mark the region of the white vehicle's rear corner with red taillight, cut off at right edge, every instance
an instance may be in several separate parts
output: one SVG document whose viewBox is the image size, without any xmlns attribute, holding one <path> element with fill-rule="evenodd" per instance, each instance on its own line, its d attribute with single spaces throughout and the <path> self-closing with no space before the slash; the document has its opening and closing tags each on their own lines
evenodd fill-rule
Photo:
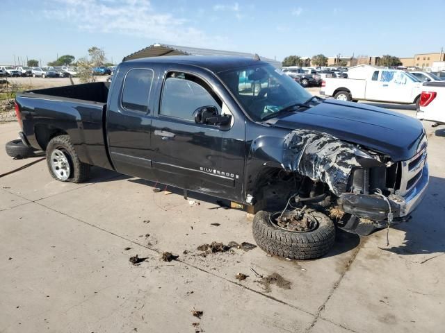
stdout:
<svg viewBox="0 0 445 333">
<path fill-rule="evenodd" d="M 445 125 L 445 87 L 443 85 L 428 83 L 423 86 L 419 106 L 417 119 Z"/>
</svg>

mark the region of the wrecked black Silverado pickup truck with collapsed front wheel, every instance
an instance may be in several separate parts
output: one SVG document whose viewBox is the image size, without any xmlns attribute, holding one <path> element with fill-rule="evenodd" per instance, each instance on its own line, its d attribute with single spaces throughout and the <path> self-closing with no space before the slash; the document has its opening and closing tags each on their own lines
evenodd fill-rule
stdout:
<svg viewBox="0 0 445 333">
<path fill-rule="evenodd" d="M 18 94 L 16 112 L 57 180 L 98 166 L 242 203 L 257 244 L 293 259 L 325 255 L 336 226 L 405 220 L 428 185 L 419 121 L 312 96 L 258 58 L 123 62 L 111 84 Z"/>
</svg>

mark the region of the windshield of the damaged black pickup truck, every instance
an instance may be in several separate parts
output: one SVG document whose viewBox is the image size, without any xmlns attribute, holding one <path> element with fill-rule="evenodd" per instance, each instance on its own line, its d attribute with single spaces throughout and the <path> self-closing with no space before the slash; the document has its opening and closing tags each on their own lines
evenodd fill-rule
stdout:
<svg viewBox="0 0 445 333">
<path fill-rule="evenodd" d="M 303 87 L 272 65 L 254 65 L 219 74 L 245 112 L 259 121 L 289 105 L 312 97 Z"/>
</svg>

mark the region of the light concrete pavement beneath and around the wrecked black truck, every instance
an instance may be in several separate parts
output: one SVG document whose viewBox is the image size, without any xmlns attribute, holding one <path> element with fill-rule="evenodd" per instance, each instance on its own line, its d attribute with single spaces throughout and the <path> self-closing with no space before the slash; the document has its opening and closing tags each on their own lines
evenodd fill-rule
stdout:
<svg viewBox="0 0 445 333">
<path fill-rule="evenodd" d="M 431 184 L 412 220 L 389 231 L 390 246 L 385 230 L 338 232 L 327 256 L 307 262 L 259 248 L 200 256 L 211 241 L 254 243 L 245 213 L 214 198 L 190 205 L 98 168 L 88 183 L 62 183 L 44 161 L 0 178 L 0 332 L 439 332 L 445 137 L 425 126 Z M 0 125 L 0 142 L 17 130 Z M 27 162 L 0 151 L 0 173 Z M 164 251 L 179 259 L 162 262 Z M 147 257 L 139 266 L 136 254 Z M 251 268 L 290 289 L 268 289 Z"/>
</svg>

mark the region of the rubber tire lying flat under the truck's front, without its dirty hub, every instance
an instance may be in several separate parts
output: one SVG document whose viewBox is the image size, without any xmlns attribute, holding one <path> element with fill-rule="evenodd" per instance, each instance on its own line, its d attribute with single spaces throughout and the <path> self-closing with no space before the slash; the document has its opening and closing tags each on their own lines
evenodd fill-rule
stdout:
<svg viewBox="0 0 445 333">
<path fill-rule="evenodd" d="M 318 227 L 309 232 L 278 228 L 269 221 L 269 212 L 258 212 L 254 216 L 252 230 L 259 248 L 271 255 L 289 259 L 316 259 L 329 252 L 335 240 L 334 223 L 316 210 L 306 212 L 318 221 Z"/>
</svg>

